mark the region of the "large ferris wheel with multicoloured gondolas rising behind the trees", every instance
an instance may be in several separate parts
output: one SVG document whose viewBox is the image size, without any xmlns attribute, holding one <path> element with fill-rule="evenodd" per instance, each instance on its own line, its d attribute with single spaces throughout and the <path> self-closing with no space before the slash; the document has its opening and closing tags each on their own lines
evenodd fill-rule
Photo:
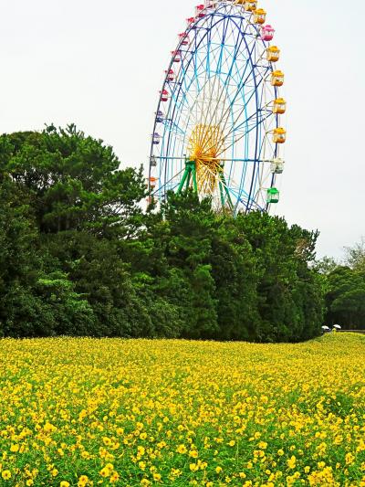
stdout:
<svg viewBox="0 0 365 487">
<path fill-rule="evenodd" d="M 287 102 L 274 34 L 256 0 L 206 1 L 187 19 L 155 114 L 150 201 L 193 188 L 234 214 L 278 202 Z"/>
</svg>

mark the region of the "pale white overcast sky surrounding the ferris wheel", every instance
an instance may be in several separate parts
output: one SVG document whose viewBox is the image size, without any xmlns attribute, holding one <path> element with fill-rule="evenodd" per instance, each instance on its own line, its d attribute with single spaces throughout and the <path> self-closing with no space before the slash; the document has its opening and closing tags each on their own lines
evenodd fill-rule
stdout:
<svg viewBox="0 0 365 487">
<path fill-rule="evenodd" d="M 0 0 L 0 132 L 78 128 L 147 164 L 162 73 L 197 0 Z M 365 235 L 365 2 L 262 0 L 282 49 L 287 167 L 277 213 L 318 255 Z"/>
</svg>

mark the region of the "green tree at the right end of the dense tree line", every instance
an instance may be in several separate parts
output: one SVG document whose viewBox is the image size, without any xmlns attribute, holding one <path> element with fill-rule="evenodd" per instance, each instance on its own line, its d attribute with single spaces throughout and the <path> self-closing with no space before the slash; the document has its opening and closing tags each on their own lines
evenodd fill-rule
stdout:
<svg viewBox="0 0 365 487">
<path fill-rule="evenodd" d="M 284 218 L 260 212 L 239 215 L 237 225 L 254 250 L 260 276 L 255 340 L 296 342 L 318 335 L 323 295 L 309 268 L 318 232 L 288 228 Z"/>
</svg>

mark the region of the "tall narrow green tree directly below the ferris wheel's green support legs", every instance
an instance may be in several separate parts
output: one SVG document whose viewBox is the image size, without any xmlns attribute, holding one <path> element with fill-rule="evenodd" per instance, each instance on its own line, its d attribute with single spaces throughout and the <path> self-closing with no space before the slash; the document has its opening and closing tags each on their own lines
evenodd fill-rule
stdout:
<svg viewBox="0 0 365 487">
<path fill-rule="evenodd" d="M 168 223 L 167 262 L 169 267 L 183 271 L 186 282 L 183 294 L 175 297 L 183 300 L 182 334 L 187 338 L 210 338 L 218 331 L 210 264 L 216 226 L 211 202 L 199 202 L 192 191 L 182 196 L 171 194 L 162 206 L 161 216 Z"/>
</svg>

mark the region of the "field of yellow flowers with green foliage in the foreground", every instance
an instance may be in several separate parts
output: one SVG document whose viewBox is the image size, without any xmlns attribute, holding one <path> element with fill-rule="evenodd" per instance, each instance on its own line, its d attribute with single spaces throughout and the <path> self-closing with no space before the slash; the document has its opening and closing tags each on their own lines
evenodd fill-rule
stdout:
<svg viewBox="0 0 365 487">
<path fill-rule="evenodd" d="M 0 341 L 0 485 L 365 486 L 365 336 Z"/>
</svg>

